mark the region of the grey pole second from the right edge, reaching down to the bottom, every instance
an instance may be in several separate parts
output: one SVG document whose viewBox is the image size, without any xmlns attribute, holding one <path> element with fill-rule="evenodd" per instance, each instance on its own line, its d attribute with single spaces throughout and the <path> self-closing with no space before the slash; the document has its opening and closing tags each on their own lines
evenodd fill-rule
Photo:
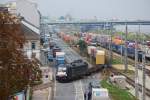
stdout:
<svg viewBox="0 0 150 100">
<path fill-rule="evenodd" d="M 138 78 L 138 42 L 137 42 L 137 32 L 135 34 L 135 97 L 139 99 L 139 78 Z"/>
</svg>

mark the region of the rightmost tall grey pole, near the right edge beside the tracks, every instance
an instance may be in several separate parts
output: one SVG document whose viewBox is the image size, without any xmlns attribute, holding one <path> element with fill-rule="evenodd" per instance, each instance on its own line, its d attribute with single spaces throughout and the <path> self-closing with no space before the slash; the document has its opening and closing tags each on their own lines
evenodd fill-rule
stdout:
<svg viewBox="0 0 150 100">
<path fill-rule="evenodd" d="M 140 33 L 140 25 L 139 25 L 139 33 Z M 144 33 L 143 35 L 143 41 L 142 41 L 142 48 L 143 48 L 143 55 L 142 55 L 142 79 L 143 79 L 143 84 L 142 84 L 142 100 L 145 100 L 145 80 L 146 80 L 146 73 L 145 73 L 145 46 L 144 46 Z"/>
</svg>

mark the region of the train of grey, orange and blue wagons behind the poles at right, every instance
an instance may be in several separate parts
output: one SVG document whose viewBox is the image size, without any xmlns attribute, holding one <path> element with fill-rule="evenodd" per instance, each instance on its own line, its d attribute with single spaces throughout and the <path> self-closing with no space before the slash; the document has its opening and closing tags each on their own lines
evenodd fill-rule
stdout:
<svg viewBox="0 0 150 100">
<path fill-rule="evenodd" d="M 101 35 L 101 34 L 89 34 L 87 33 L 87 36 L 85 35 L 85 42 L 88 45 L 93 45 L 93 46 L 101 46 L 104 47 L 106 49 L 109 49 L 110 45 L 112 47 L 112 50 L 116 53 L 125 54 L 125 41 L 123 41 L 119 36 L 117 37 L 113 37 L 112 39 L 112 43 L 110 43 L 111 40 L 111 36 L 110 35 Z M 127 41 L 127 56 L 129 58 L 134 59 L 135 58 L 135 42 L 134 41 Z M 150 42 L 147 41 L 146 45 L 149 46 Z M 139 43 L 139 45 L 141 45 Z M 145 46 L 146 46 L 145 45 Z M 142 61 L 142 55 L 143 55 L 143 51 L 138 48 L 138 61 L 141 62 Z M 150 53 L 148 52 L 150 51 L 150 47 L 148 50 L 146 50 L 146 55 L 145 55 L 145 59 L 146 61 L 150 61 Z"/>
</svg>

